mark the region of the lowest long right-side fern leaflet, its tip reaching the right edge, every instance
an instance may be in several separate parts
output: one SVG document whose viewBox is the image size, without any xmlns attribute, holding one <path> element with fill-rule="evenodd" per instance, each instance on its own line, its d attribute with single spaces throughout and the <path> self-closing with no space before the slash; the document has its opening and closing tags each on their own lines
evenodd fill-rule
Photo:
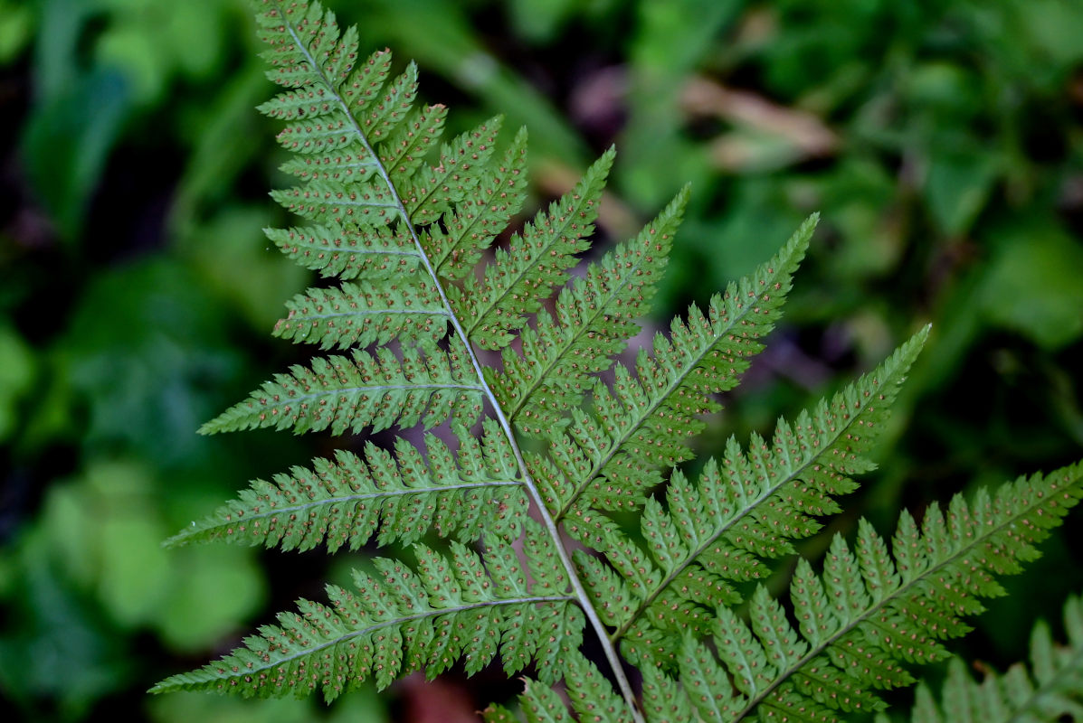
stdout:
<svg viewBox="0 0 1083 723">
<path fill-rule="evenodd" d="M 982 612 L 980 597 L 1002 594 L 995 576 L 1039 556 L 1034 545 L 1080 498 L 1083 463 L 1020 477 L 993 495 L 979 490 L 971 503 L 957 495 L 947 515 L 936 505 L 926 511 L 921 533 L 904 513 L 893 554 L 862 520 L 853 550 L 835 537 L 822 576 L 798 561 L 791 584 L 798 629 L 762 586 L 751 622 L 719 607 L 713 644 L 732 679 L 725 709 L 733 715 L 718 720 L 755 712 L 760 720 L 836 721 L 839 712 L 882 709 L 876 691 L 913 683 L 908 663 L 945 657 L 941 641 L 968 630 L 960 618 Z M 686 654 L 689 645 L 702 648 L 686 643 Z M 678 661 L 682 676 L 699 665 Z"/>
</svg>

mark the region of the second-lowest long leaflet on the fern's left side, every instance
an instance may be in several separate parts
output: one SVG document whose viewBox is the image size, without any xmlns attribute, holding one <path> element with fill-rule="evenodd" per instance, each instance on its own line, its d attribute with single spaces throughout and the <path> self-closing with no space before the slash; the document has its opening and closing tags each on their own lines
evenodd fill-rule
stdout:
<svg viewBox="0 0 1083 723">
<path fill-rule="evenodd" d="M 527 499 L 503 432 L 486 420 L 478 439 L 459 430 L 453 452 L 426 435 L 423 452 L 403 438 L 395 455 L 365 445 L 364 457 L 339 450 L 335 461 L 292 468 L 249 489 L 211 516 L 193 522 L 167 544 L 224 540 L 283 550 L 326 544 L 357 550 L 374 536 L 380 544 L 419 540 L 429 529 L 471 542 L 483 533 L 513 539 Z"/>
</svg>

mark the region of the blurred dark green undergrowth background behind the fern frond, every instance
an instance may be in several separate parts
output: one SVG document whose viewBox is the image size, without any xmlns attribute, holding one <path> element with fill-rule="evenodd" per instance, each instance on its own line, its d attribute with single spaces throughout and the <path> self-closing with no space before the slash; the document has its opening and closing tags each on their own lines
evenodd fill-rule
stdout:
<svg viewBox="0 0 1083 723">
<path fill-rule="evenodd" d="M 363 48 L 417 60 L 453 131 L 529 126 L 531 210 L 614 143 L 601 242 L 691 182 L 654 324 L 821 211 L 703 455 L 934 324 L 879 471 L 827 531 L 859 514 L 889 531 L 902 507 L 1083 457 L 1083 3 L 331 5 Z M 242 0 L 0 0 L 3 720 L 457 721 L 517 689 L 453 673 L 330 708 L 144 693 L 355 562 L 159 545 L 247 479 L 350 443 L 195 434 L 309 352 L 269 334 L 310 279 L 260 233 L 287 219 L 257 45 Z M 1080 521 L 954 649 L 1026 655 L 1032 621 L 1083 591 Z"/>
</svg>

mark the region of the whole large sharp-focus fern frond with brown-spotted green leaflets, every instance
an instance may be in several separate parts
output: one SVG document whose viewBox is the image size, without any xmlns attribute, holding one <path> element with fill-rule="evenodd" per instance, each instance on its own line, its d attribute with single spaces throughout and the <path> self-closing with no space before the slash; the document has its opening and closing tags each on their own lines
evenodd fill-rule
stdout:
<svg viewBox="0 0 1083 723">
<path fill-rule="evenodd" d="M 573 277 L 610 150 L 493 249 L 525 199 L 526 132 L 501 143 L 494 118 L 438 145 L 446 111 L 418 104 L 414 65 L 392 78 L 388 52 L 362 60 L 356 31 L 317 2 L 258 4 L 269 75 L 286 88 L 260 110 L 286 122 L 278 140 L 296 155 L 284 169 L 298 179 L 274 197 L 309 221 L 268 235 L 341 279 L 289 301 L 275 333 L 336 353 L 276 376 L 201 431 L 446 433 L 391 450 L 366 442 L 257 479 L 172 538 L 410 552 L 155 692 L 318 689 L 330 700 L 366 680 L 498 660 L 533 679 L 519 713 L 494 706 L 490 721 L 839 720 L 882 709 L 878 691 L 943 657 L 961 618 L 1000 591 L 995 576 L 1036 554 L 1083 495 L 1074 465 L 955 498 L 921 525 L 903 515 L 890 544 L 862 522 L 819 571 L 797 563 L 788 597 L 749 587 L 872 468 L 928 329 L 770 439 L 730 439 L 691 478 L 677 466 L 693 457 L 701 417 L 760 351 L 815 219 L 632 366 L 617 364 L 687 192 Z M 499 364 L 485 366 L 481 350 Z M 638 515 L 638 529 L 615 512 Z M 580 654 L 584 635 L 599 641 L 604 674 Z"/>
</svg>

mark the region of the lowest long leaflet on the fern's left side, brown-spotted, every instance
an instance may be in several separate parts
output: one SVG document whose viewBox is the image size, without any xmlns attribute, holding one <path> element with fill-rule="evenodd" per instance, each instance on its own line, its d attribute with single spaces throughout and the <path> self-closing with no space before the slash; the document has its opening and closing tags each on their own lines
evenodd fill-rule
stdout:
<svg viewBox="0 0 1083 723">
<path fill-rule="evenodd" d="M 544 537 L 530 526 L 527 538 L 548 557 L 554 552 Z M 416 570 L 376 560 L 378 576 L 355 571 L 355 591 L 328 586 L 329 605 L 302 600 L 298 612 L 280 614 L 278 625 L 261 628 L 245 647 L 153 692 L 270 697 L 322 689 L 331 700 L 366 680 L 383 688 L 415 670 L 431 678 L 459 658 L 474 673 L 498 652 L 509 674 L 533 661 L 548 683 L 559 679 L 584 625 L 574 597 L 551 592 L 567 584 L 559 566 L 529 558 L 524 568 L 511 543 L 494 538 L 487 538 L 484 565 L 459 543 L 449 557 L 421 544 L 414 550 Z M 527 584 L 527 577 L 535 582 Z"/>
</svg>

